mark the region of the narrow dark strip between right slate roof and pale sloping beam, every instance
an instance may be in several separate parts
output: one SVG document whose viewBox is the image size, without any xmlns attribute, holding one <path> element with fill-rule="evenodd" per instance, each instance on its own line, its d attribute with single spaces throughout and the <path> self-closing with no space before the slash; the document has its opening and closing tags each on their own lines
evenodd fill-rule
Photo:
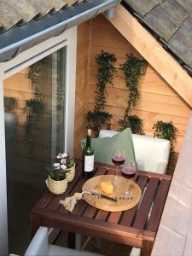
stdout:
<svg viewBox="0 0 192 256">
<path fill-rule="evenodd" d="M 125 3 L 124 1 L 121 3 L 125 9 L 127 9 L 127 11 L 129 11 L 131 13 L 131 15 L 135 16 L 137 18 L 137 20 L 143 25 L 143 27 L 145 27 L 148 32 L 150 32 L 154 38 L 156 38 L 160 44 L 163 46 L 163 48 L 166 49 L 167 52 L 169 52 L 174 59 L 176 59 L 180 66 L 183 67 L 183 69 L 185 69 L 187 71 L 187 73 L 189 73 L 189 75 L 192 77 L 192 69 L 191 67 L 189 67 L 189 65 L 187 65 L 178 55 L 177 53 L 174 51 L 174 49 L 172 49 L 167 43 L 166 41 L 160 37 L 160 35 L 154 31 L 154 29 L 148 24 L 148 22 L 146 20 L 143 19 L 143 17 L 141 17 L 139 14 L 137 14 L 134 9 L 132 9 L 127 3 Z"/>
</svg>

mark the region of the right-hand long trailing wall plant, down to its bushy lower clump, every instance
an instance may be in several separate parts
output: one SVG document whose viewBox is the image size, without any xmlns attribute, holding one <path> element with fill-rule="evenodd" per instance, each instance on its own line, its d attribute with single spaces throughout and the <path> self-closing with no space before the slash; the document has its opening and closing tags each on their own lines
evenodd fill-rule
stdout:
<svg viewBox="0 0 192 256">
<path fill-rule="evenodd" d="M 126 55 L 127 60 L 120 65 L 120 69 L 125 74 L 125 84 L 129 89 L 129 98 L 127 100 L 127 108 L 123 119 L 119 119 L 120 130 L 123 131 L 127 127 L 131 127 L 133 133 L 143 134 L 143 119 L 136 115 L 131 116 L 130 108 L 135 108 L 139 100 L 138 83 L 140 76 L 144 73 L 147 62 L 133 55 Z"/>
</svg>

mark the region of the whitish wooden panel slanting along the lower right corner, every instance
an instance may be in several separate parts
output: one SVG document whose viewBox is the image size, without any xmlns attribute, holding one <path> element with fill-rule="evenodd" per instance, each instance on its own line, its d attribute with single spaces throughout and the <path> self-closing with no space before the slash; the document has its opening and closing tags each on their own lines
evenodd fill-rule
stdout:
<svg viewBox="0 0 192 256">
<path fill-rule="evenodd" d="M 192 252 L 192 115 L 172 177 L 152 256 Z"/>
</svg>

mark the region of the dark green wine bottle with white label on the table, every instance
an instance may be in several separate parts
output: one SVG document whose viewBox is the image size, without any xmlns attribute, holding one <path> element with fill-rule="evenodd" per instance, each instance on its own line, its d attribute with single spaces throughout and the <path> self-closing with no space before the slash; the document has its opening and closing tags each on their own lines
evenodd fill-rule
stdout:
<svg viewBox="0 0 192 256">
<path fill-rule="evenodd" d="M 82 151 L 82 177 L 88 179 L 93 176 L 94 151 L 91 148 L 91 130 L 87 131 L 86 146 Z"/>
</svg>

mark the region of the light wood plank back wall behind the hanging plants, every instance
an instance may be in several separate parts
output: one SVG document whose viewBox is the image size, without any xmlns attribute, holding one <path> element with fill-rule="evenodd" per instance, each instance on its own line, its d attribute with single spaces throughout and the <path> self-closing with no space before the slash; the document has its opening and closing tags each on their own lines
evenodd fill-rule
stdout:
<svg viewBox="0 0 192 256">
<path fill-rule="evenodd" d="M 87 23 L 86 23 L 86 26 Z M 88 32 L 88 28 L 87 28 Z M 92 110 L 95 104 L 95 90 L 97 72 L 95 57 L 101 50 L 113 53 L 117 57 L 116 66 L 125 62 L 126 54 L 140 56 L 139 53 L 129 44 L 126 39 L 113 27 L 113 25 L 104 18 L 103 15 L 97 16 L 94 20 L 90 20 L 89 24 L 89 61 L 87 86 L 89 90 L 89 109 Z M 82 41 L 84 34 L 79 30 L 79 43 Z M 85 39 L 84 39 L 85 40 Z M 86 41 L 88 43 L 88 41 Z M 82 44 L 82 43 L 81 43 Z M 84 49 L 84 58 L 87 57 L 87 49 Z M 80 56 L 78 53 L 78 60 Z M 79 62 L 79 61 L 78 61 Z M 79 65 L 79 64 L 78 64 Z M 77 73 L 79 79 L 79 73 Z M 77 84 L 78 85 L 78 84 Z M 77 86 L 78 87 L 78 86 Z M 108 101 L 106 110 L 113 114 L 112 129 L 119 128 L 117 122 L 123 117 L 126 107 L 128 91 L 125 87 L 124 74 L 119 70 L 113 79 L 113 86 L 108 86 Z M 172 121 L 178 129 L 176 152 L 178 153 L 183 142 L 183 136 L 186 131 L 190 108 L 187 103 L 183 102 L 171 87 L 148 65 L 147 73 L 140 80 L 139 90 L 141 98 L 137 103 L 137 107 L 131 111 L 131 114 L 137 114 L 144 122 L 144 131 L 148 136 L 153 136 L 152 129 L 157 120 L 165 122 Z M 76 96 L 79 90 L 76 91 Z M 85 109 L 84 109 L 85 110 Z M 77 110 L 76 110 L 77 111 Z M 80 117 L 78 117 L 79 119 Z M 82 116 L 82 124 L 84 124 L 84 116 Z M 80 123 L 80 120 L 79 120 Z M 77 129 L 76 129 L 77 132 Z M 78 130 L 79 132 L 79 130 Z M 83 134 L 83 133 L 82 133 Z M 76 154 L 78 150 L 76 150 Z"/>
</svg>

